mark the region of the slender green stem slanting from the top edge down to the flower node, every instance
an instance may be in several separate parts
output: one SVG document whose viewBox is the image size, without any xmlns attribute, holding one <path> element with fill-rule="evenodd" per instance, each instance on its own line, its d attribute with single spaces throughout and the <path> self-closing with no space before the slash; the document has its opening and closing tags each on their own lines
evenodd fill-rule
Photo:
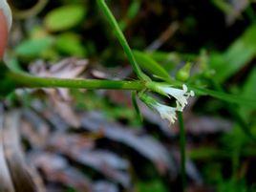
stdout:
<svg viewBox="0 0 256 192">
<path fill-rule="evenodd" d="M 107 4 L 105 3 L 105 0 L 97 0 L 97 4 L 98 4 L 98 7 L 104 12 L 105 16 L 107 17 L 108 22 L 110 23 L 111 27 L 114 30 L 114 32 L 116 32 L 117 39 L 119 40 L 119 43 L 121 44 L 124 52 L 127 54 L 127 57 L 132 65 L 136 75 L 138 75 L 138 77 L 140 79 L 150 80 L 149 77 L 147 75 L 145 75 L 144 73 L 142 73 L 142 71 L 140 70 L 137 60 L 136 60 L 134 54 L 132 53 L 132 50 L 131 50 L 125 36 L 123 35 L 123 33 L 121 32 L 121 30 L 119 28 L 115 16 L 109 10 Z"/>
</svg>

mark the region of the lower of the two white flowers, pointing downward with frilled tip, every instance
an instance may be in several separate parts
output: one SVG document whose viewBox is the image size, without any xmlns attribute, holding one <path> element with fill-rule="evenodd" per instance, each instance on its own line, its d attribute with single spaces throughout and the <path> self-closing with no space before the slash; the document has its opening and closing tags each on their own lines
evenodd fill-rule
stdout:
<svg viewBox="0 0 256 192">
<path fill-rule="evenodd" d="M 176 108 L 169 107 L 167 105 L 162 105 L 158 102 L 153 107 L 160 113 L 160 117 L 167 119 L 170 122 L 170 124 L 174 123 L 175 120 L 177 119 Z"/>
</svg>

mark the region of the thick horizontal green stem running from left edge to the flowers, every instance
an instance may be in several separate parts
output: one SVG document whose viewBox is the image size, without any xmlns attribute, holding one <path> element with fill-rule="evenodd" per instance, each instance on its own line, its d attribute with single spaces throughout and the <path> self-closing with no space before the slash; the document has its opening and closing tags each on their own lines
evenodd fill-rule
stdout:
<svg viewBox="0 0 256 192">
<path fill-rule="evenodd" d="M 74 89 L 116 89 L 135 90 L 144 89 L 141 81 L 116 81 L 97 79 L 68 79 L 54 77 L 39 77 L 26 73 L 8 72 L 7 76 L 17 87 L 23 88 L 74 88 Z"/>
</svg>

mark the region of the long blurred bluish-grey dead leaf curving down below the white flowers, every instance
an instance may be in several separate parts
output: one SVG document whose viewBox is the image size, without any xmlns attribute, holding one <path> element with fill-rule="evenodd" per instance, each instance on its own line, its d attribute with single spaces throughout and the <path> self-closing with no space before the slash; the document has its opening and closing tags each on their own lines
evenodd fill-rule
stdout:
<svg viewBox="0 0 256 192">
<path fill-rule="evenodd" d="M 82 117 L 82 126 L 91 132 L 102 132 L 107 139 L 125 144 L 143 157 L 151 160 L 160 173 L 169 170 L 176 175 L 177 169 L 167 149 L 157 139 L 148 135 L 139 135 L 134 128 L 125 127 L 116 122 L 109 122 L 100 113 L 88 113 Z"/>
</svg>

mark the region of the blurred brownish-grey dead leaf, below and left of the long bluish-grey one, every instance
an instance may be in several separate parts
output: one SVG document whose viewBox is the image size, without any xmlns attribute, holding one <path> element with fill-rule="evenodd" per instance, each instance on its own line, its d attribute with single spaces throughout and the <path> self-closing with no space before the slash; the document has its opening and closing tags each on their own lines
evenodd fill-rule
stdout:
<svg viewBox="0 0 256 192">
<path fill-rule="evenodd" d="M 78 135 L 56 134 L 49 140 L 49 147 L 60 152 L 71 160 L 94 168 L 107 178 L 129 186 L 130 177 L 127 174 L 129 163 L 116 154 L 94 149 L 94 142 Z"/>
</svg>

